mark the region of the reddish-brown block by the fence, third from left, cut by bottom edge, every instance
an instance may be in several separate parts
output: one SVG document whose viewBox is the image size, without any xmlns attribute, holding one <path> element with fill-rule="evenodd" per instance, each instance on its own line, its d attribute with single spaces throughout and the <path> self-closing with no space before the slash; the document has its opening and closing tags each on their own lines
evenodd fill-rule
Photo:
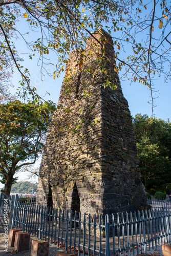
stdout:
<svg viewBox="0 0 171 256">
<path fill-rule="evenodd" d="M 49 243 L 46 241 L 32 240 L 30 256 L 48 256 Z"/>
</svg>

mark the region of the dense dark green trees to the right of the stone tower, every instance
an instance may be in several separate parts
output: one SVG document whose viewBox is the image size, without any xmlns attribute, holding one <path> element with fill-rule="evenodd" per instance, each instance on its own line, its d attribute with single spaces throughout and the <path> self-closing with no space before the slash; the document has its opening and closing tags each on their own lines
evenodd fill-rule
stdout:
<svg viewBox="0 0 171 256">
<path fill-rule="evenodd" d="M 171 182 L 171 123 L 137 114 L 133 120 L 138 160 L 146 189 Z"/>
</svg>

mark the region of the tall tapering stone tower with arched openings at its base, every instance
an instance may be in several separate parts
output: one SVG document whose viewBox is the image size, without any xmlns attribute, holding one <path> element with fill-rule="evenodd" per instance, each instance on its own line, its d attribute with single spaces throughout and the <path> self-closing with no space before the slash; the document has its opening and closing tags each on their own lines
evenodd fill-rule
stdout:
<svg viewBox="0 0 171 256">
<path fill-rule="evenodd" d="M 79 56 L 70 56 L 41 160 L 37 202 L 103 215 L 142 209 L 146 195 L 112 37 L 103 30 L 93 36 Z M 106 73 L 111 80 L 104 89 Z"/>
</svg>

